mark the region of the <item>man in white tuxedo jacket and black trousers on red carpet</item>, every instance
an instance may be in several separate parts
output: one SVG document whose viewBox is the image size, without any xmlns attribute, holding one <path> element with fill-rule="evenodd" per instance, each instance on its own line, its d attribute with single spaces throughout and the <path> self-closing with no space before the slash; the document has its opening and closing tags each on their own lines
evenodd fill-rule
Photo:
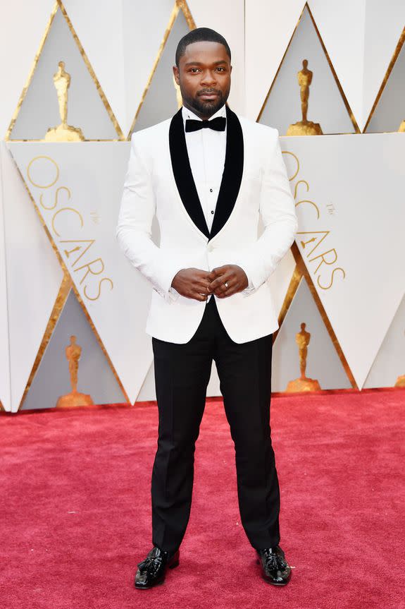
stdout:
<svg viewBox="0 0 405 609">
<path fill-rule="evenodd" d="M 116 236 L 153 285 L 152 337 L 159 426 L 151 480 L 152 548 L 135 587 L 161 583 L 179 563 L 192 500 L 194 450 L 216 361 L 235 442 L 242 525 L 261 573 L 283 586 L 280 491 L 270 439 L 272 333 L 266 280 L 294 241 L 297 216 L 278 131 L 237 116 L 230 49 L 208 28 L 177 47 L 183 106 L 132 135 Z M 160 246 L 151 241 L 156 214 Z M 258 239 L 258 220 L 263 234 Z"/>
</svg>

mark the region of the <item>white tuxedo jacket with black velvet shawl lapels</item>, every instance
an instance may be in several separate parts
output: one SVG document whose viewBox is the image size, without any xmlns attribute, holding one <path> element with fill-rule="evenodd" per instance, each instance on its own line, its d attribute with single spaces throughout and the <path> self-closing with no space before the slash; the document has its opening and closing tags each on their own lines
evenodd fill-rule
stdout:
<svg viewBox="0 0 405 609">
<path fill-rule="evenodd" d="M 170 290 L 177 271 L 239 265 L 251 282 L 218 299 L 230 338 L 247 342 L 278 329 L 267 279 L 294 241 L 297 215 L 277 129 L 237 116 L 228 107 L 225 167 L 211 233 L 199 202 L 187 156 L 181 109 L 134 133 L 120 204 L 116 239 L 135 268 L 153 286 L 146 331 L 185 343 L 201 321 L 206 301 Z M 151 239 L 156 215 L 161 232 Z M 261 216 L 263 233 L 258 238 Z"/>
</svg>

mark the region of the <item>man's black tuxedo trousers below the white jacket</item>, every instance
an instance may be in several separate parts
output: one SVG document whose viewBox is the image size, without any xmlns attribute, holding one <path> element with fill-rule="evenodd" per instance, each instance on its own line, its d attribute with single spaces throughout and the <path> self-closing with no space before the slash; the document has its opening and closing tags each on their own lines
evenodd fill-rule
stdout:
<svg viewBox="0 0 405 609">
<path fill-rule="evenodd" d="M 189 342 L 152 338 L 159 414 L 151 478 L 152 542 L 161 550 L 177 550 L 189 521 L 195 442 L 213 360 L 235 443 L 242 526 L 254 548 L 279 543 L 280 490 L 270 438 L 272 339 L 268 334 L 233 342 L 213 296 Z"/>
</svg>

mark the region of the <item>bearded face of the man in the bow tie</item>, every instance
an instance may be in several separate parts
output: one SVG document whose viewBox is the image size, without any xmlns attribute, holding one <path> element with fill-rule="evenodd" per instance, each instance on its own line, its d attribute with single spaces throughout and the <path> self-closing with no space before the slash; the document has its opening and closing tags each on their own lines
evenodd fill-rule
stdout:
<svg viewBox="0 0 405 609">
<path fill-rule="evenodd" d="M 184 106 L 201 119 L 215 114 L 228 100 L 231 71 L 230 59 L 223 44 L 189 44 L 185 54 L 180 57 L 179 67 L 173 66 Z"/>
</svg>

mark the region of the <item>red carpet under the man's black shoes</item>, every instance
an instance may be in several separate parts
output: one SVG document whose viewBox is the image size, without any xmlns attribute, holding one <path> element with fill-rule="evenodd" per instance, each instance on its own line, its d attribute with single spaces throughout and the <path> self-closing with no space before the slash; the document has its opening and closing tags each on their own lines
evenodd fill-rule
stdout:
<svg viewBox="0 0 405 609">
<path fill-rule="evenodd" d="M 207 403 L 180 566 L 132 587 L 151 548 L 157 409 L 0 416 L 4 609 L 403 609 L 405 392 L 275 397 L 285 588 L 239 521 L 222 402 Z"/>
</svg>

